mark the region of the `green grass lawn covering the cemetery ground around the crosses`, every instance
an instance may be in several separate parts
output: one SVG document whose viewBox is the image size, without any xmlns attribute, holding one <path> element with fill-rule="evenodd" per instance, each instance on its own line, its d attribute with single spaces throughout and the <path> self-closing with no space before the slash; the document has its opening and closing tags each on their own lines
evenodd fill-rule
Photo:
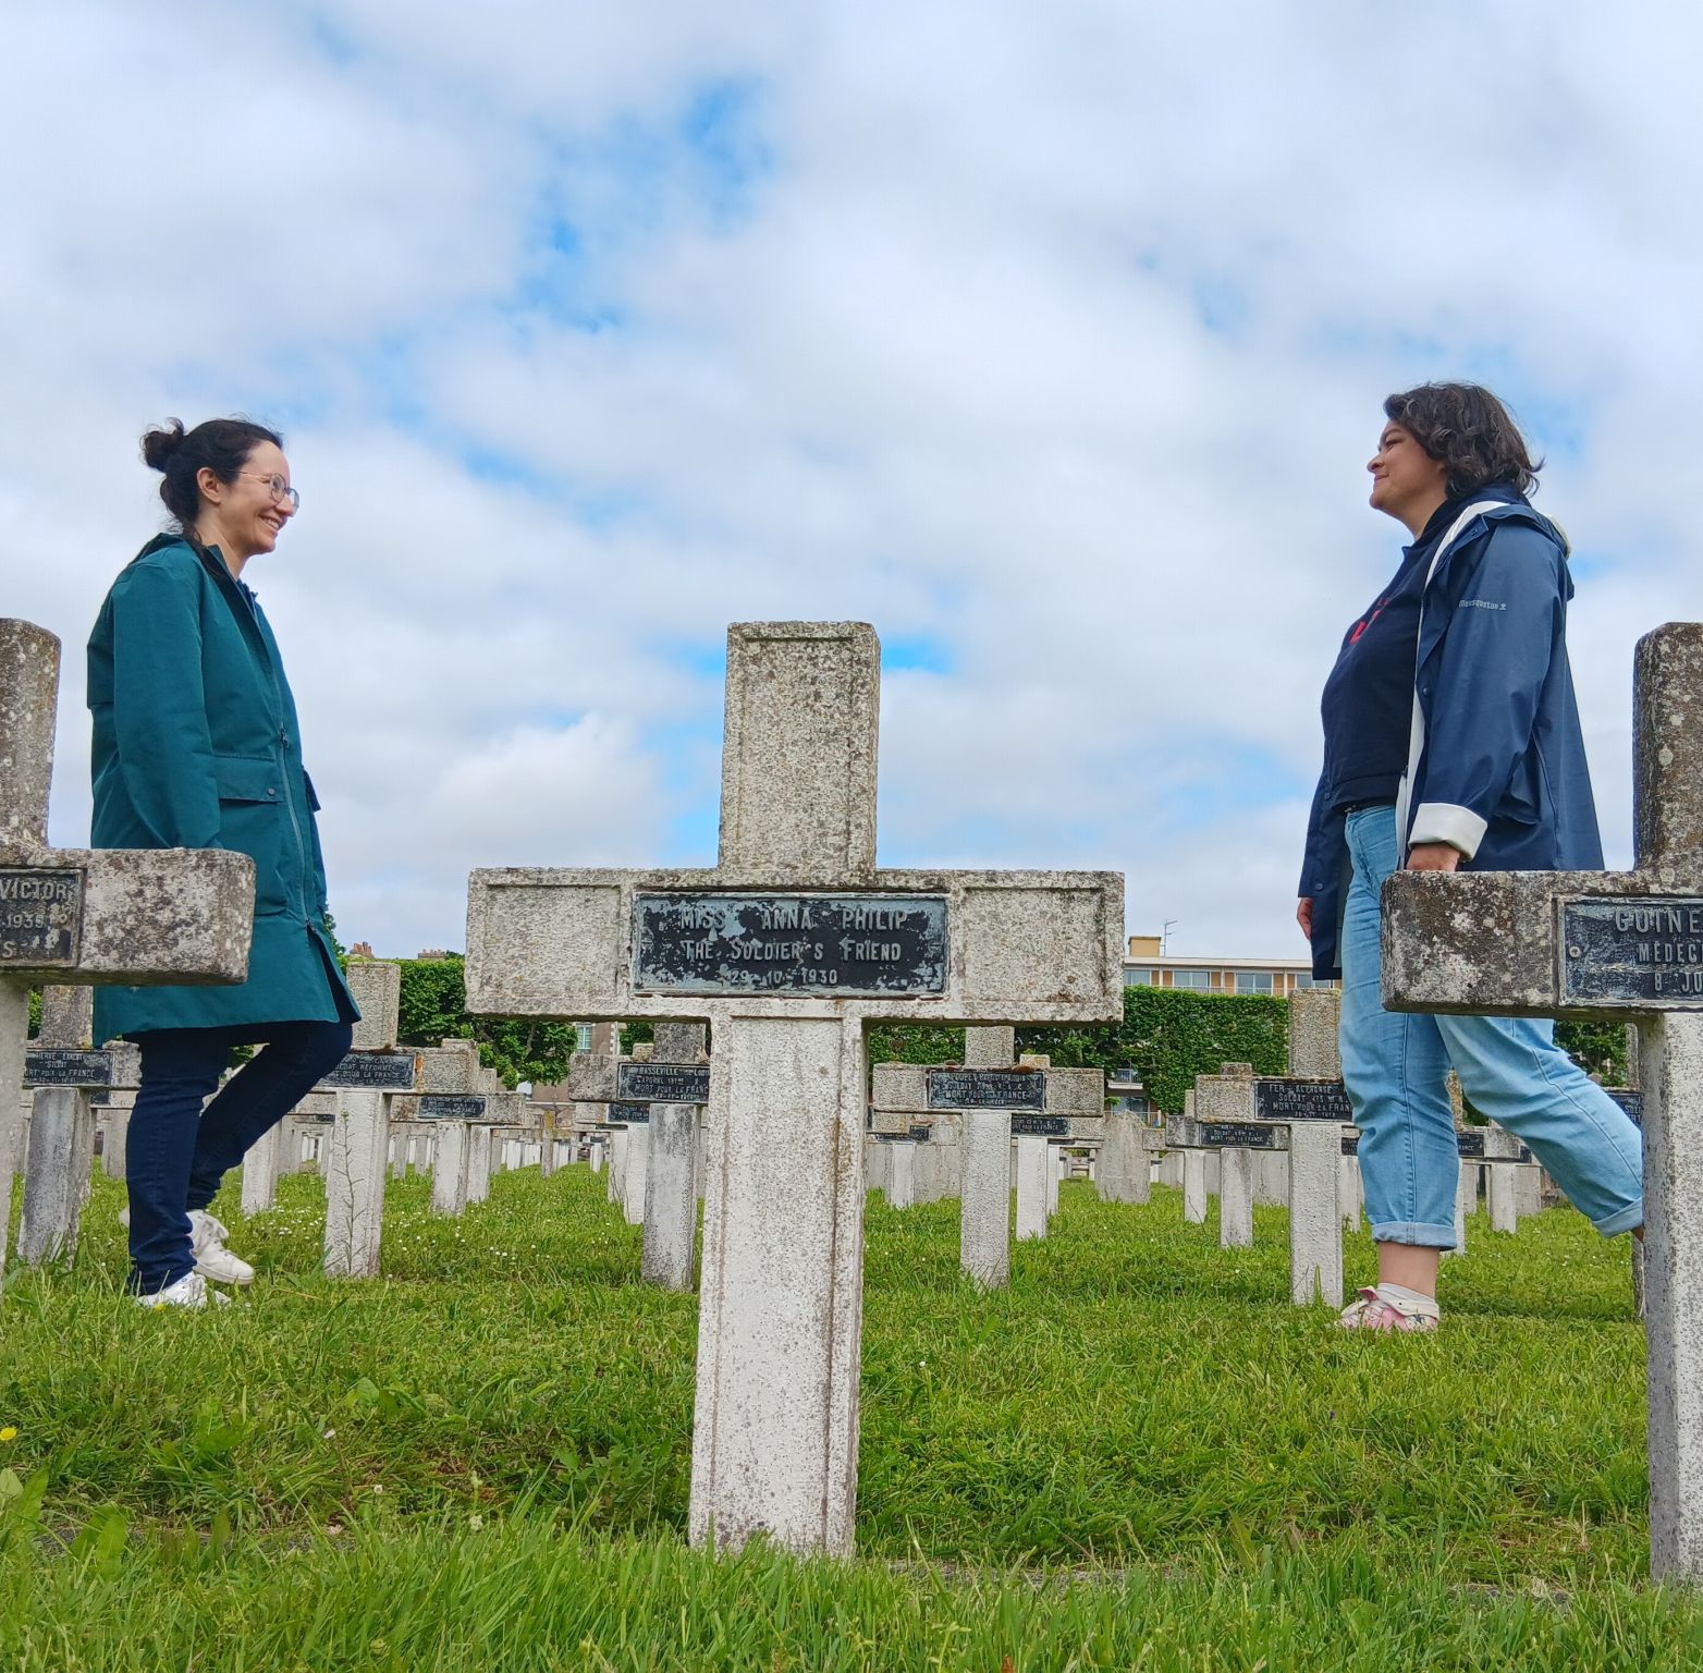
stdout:
<svg viewBox="0 0 1703 1673">
<path fill-rule="evenodd" d="M 1626 1242 L 1568 1211 L 1475 1218 L 1444 1331 L 1361 1339 L 1287 1305 L 1281 1210 L 1224 1252 L 1071 1184 L 979 1295 L 955 1204 L 870 1199 L 860 1561 L 795 1564 L 685 1549 L 697 1303 L 603 1181 L 427 1189 L 383 1281 L 318 1276 L 312 1177 L 216 1204 L 230 1310 L 128 1303 L 104 1179 L 75 1269 L 10 1274 L 0 1666 L 1703 1664 L 1647 1579 Z"/>
</svg>

